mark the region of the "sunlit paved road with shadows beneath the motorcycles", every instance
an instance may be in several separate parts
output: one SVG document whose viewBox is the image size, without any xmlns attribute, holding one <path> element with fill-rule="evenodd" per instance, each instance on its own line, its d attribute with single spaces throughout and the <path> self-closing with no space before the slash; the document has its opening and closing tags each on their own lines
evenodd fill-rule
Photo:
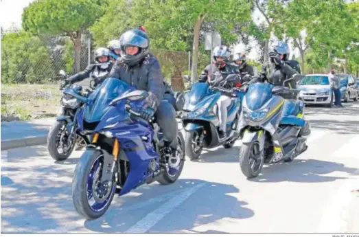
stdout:
<svg viewBox="0 0 359 237">
<path fill-rule="evenodd" d="M 82 152 L 52 160 L 45 146 L 1 152 L 2 232 L 359 232 L 359 104 L 308 107 L 308 150 L 292 163 L 240 172 L 234 148 L 186 161 L 173 185 L 144 185 L 85 221 L 73 208 L 71 179 Z M 355 229 L 356 228 L 356 229 Z"/>
</svg>

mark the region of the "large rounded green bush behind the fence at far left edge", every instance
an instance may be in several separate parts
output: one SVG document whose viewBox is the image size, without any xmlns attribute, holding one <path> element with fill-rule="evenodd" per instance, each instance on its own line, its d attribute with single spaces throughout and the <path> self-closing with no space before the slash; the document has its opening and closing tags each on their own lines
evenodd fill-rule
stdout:
<svg viewBox="0 0 359 237">
<path fill-rule="evenodd" d="M 34 83 L 54 75 L 49 49 L 37 36 L 24 31 L 5 34 L 1 46 L 1 82 Z"/>
</svg>

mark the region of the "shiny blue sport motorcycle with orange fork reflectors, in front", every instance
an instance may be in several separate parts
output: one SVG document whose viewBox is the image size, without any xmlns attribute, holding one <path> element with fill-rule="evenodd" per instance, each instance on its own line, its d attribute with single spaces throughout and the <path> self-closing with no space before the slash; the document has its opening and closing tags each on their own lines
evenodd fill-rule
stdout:
<svg viewBox="0 0 359 237">
<path fill-rule="evenodd" d="M 87 219 L 102 216 L 115 193 L 122 196 L 145 183 L 174 183 L 185 162 L 185 143 L 178 133 L 172 157 L 160 128 L 139 117 L 147 91 L 107 78 L 78 112 L 80 134 L 91 136 L 72 181 L 76 211 Z"/>
</svg>

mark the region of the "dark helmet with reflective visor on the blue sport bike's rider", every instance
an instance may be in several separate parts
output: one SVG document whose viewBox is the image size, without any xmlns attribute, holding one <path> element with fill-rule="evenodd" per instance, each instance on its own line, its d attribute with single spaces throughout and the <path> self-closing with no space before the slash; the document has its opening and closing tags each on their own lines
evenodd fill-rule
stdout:
<svg viewBox="0 0 359 237">
<path fill-rule="evenodd" d="M 122 34 L 119 44 L 121 45 L 121 58 L 128 66 L 140 63 L 150 52 L 150 39 L 145 32 L 139 29 L 128 30 Z M 135 55 L 126 54 L 128 46 L 138 47 L 139 52 Z"/>
</svg>

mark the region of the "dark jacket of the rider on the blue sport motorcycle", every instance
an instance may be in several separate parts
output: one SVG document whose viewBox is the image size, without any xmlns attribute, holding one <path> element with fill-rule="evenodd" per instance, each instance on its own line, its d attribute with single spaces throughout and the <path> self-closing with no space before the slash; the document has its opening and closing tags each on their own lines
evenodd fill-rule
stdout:
<svg viewBox="0 0 359 237">
<path fill-rule="evenodd" d="M 156 106 L 163 99 L 163 77 L 159 60 L 152 54 L 148 54 L 138 65 L 128 67 L 121 58 L 111 70 L 108 77 L 118 78 L 139 90 L 149 92 L 147 98 Z"/>
</svg>

